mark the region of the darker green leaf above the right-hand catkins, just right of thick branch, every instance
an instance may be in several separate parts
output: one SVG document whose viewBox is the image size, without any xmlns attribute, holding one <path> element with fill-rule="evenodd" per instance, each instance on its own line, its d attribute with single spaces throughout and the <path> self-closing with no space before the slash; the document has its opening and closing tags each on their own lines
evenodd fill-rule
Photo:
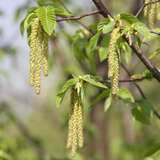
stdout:
<svg viewBox="0 0 160 160">
<path fill-rule="evenodd" d="M 129 25 L 139 22 L 135 16 L 133 16 L 132 14 L 129 14 L 129 13 L 121 13 L 120 19 Z"/>
</svg>

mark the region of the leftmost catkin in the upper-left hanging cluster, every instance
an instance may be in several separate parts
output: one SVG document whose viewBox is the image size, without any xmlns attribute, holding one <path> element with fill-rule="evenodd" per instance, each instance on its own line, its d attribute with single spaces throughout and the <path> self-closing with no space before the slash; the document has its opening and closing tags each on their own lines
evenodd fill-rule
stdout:
<svg viewBox="0 0 160 160">
<path fill-rule="evenodd" d="M 30 36 L 30 85 L 31 86 L 34 86 L 36 41 L 37 41 L 39 24 L 40 24 L 39 19 L 36 18 L 32 25 L 32 32 Z"/>
</svg>

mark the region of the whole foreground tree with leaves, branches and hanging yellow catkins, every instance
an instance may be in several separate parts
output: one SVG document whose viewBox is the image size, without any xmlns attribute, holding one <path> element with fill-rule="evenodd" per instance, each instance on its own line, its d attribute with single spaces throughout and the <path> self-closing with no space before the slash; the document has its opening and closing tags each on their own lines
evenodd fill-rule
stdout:
<svg viewBox="0 0 160 160">
<path fill-rule="evenodd" d="M 145 82 L 146 85 L 154 80 L 160 82 L 160 70 L 152 62 L 160 54 L 160 48 L 156 48 L 149 56 L 144 49 L 160 39 L 160 1 L 139 1 L 142 3 L 135 15 L 113 14 L 101 0 L 92 0 L 95 10 L 74 16 L 61 0 L 41 0 L 37 6 L 28 10 L 21 22 L 21 33 L 23 35 L 24 31 L 27 32 L 30 47 L 30 85 L 35 88 L 36 94 L 43 92 L 40 89 L 41 70 L 45 76 L 50 74 L 49 41 L 53 42 L 58 37 L 59 30 L 64 29 L 61 22 L 79 25 L 74 35 L 68 37 L 71 38 L 72 56 L 74 55 L 84 74 L 70 72 L 69 78 L 56 96 L 56 104 L 60 106 L 66 92 L 70 93 L 70 106 L 66 106 L 69 108 L 66 147 L 71 150 L 73 158 L 78 150 L 87 145 L 84 137 L 84 121 L 87 116 L 84 111 L 88 107 L 86 101 L 90 101 L 91 110 L 94 110 L 96 104 L 102 103 L 104 112 L 107 112 L 109 108 L 112 109 L 114 102 L 120 103 L 122 100 L 124 105 L 132 106 L 132 117 L 144 125 L 149 125 L 154 117 L 160 120 L 160 114 L 149 100 L 150 97 L 146 96 L 139 85 L 140 82 Z M 80 22 L 88 16 L 100 16 L 101 20 L 88 26 Z M 137 64 L 145 69 L 134 74 Z M 97 87 L 98 94 L 96 92 L 93 94 L 94 98 L 88 99 L 87 94 L 92 86 Z M 135 95 L 131 87 L 139 95 L 138 92 Z M 155 151 L 141 159 L 154 159 Z"/>
</svg>

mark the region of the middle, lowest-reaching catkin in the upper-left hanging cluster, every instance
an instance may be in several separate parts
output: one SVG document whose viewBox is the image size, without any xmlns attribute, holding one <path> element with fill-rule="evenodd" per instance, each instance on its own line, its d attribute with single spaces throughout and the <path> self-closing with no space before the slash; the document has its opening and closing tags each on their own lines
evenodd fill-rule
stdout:
<svg viewBox="0 0 160 160">
<path fill-rule="evenodd" d="M 42 28 L 39 26 L 37 42 L 36 42 L 36 61 L 35 61 L 35 91 L 40 94 L 40 81 L 41 81 L 41 65 L 42 65 Z"/>
</svg>

